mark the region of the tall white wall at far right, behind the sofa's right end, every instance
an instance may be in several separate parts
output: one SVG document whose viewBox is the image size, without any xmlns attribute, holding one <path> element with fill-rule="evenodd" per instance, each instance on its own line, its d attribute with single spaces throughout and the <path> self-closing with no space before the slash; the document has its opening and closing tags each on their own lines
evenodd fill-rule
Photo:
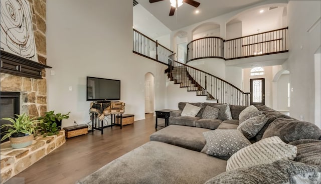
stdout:
<svg viewBox="0 0 321 184">
<path fill-rule="evenodd" d="M 290 115 L 314 123 L 314 53 L 321 43 L 320 1 L 289 1 Z M 314 25 L 314 26 L 313 26 Z"/>
</svg>

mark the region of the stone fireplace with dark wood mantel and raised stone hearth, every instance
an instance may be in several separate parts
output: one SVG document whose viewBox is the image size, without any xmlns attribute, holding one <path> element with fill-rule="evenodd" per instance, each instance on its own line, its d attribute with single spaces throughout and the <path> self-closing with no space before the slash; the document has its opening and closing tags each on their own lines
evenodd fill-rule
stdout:
<svg viewBox="0 0 321 184">
<path fill-rule="evenodd" d="M 47 111 L 47 81 L 44 68 L 51 68 L 46 65 L 46 0 L 23 1 L 28 1 L 30 5 L 38 62 L 11 53 L 8 54 L 1 48 L 0 91 L 2 94 L 5 94 L 3 92 L 18 94 L 17 98 L 20 101 L 19 114 L 27 113 L 33 116 L 42 116 Z M 12 12 L 9 13 L 11 16 L 14 15 L 11 14 Z M 1 108 L 11 108 L 7 105 L 3 104 Z M 8 111 L 12 110 L 9 109 Z M 65 141 L 64 130 L 61 130 L 58 135 L 37 136 L 33 140 L 33 144 L 25 148 L 13 149 L 9 141 L 2 143 L 0 148 L 0 183 L 14 177 L 64 144 Z"/>
</svg>

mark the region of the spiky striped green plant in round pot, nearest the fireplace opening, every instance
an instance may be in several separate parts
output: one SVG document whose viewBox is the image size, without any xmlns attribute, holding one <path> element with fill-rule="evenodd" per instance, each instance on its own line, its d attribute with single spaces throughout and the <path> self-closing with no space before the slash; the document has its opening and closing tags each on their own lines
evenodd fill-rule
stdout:
<svg viewBox="0 0 321 184">
<path fill-rule="evenodd" d="M 8 120 L 12 124 L 3 124 L 0 128 L 7 127 L 8 130 L 2 132 L 3 137 L 1 141 L 9 137 L 11 146 L 13 148 L 22 148 L 32 144 L 34 139 L 35 130 L 39 127 L 41 121 L 37 117 L 31 117 L 26 113 L 21 115 L 16 114 L 17 118 L 2 118 L 2 120 Z"/>
</svg>

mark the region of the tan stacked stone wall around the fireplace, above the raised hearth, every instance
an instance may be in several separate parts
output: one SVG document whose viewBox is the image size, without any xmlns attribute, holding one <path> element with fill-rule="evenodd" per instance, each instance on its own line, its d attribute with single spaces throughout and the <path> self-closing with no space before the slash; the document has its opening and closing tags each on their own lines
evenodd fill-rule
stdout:
<svg viewBox="0 0 321 184">
<path fill-rule="evenodd" d="M 32 14 L 38 62 L 47 64 L 46 49 L 46 0 L 28 0 Z M 46 71 L 43 79 L 31 79 L 1 73 L 1 91 L 21 92 L 20 113 L 42 116 L 47 111 Z"/>
</svg>

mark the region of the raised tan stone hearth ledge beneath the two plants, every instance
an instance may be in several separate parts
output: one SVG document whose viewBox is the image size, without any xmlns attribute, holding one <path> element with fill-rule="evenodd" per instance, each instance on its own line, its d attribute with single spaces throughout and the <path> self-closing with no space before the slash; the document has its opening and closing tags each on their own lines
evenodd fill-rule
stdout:
<svg viewBox="0 0 321 184">
<path fill-rule="evenodd" d="M 32 145 L 24 148 L 13 149 L 10 141 L 2 143 L 0 148 L 0 183 L 5 183 L 65 142 L 65 130 L 62 129 L 58 135 L 37 136 Z"/>
</svg>

